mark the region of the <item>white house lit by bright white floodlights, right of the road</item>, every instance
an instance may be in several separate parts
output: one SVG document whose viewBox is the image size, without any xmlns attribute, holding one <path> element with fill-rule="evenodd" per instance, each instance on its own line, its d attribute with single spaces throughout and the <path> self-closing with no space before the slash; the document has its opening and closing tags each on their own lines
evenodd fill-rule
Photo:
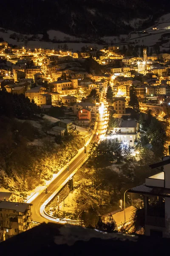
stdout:
<svg viewBox="0 0 170 256">
<path fill-rule="evenodd" d="M 119 128 L 120 133 L 116 134 L 118 141 L 134 147 L 139 137 L 139 123 L 136 120 L 126 120 L 121 122 Z"/>
</svg>

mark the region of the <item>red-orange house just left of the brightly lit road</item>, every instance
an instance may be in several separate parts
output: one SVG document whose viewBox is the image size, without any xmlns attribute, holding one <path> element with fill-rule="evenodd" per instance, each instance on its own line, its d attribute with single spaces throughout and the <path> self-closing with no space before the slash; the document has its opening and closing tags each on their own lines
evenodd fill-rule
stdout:
<svg viewBox="0 0 170 256">
<path fill-rule="evenodd" d="M 77 121 L 75 121 L 76 125 L 90 127 L 91 123 L 91 109 L 82 108 L 77 112 Z"/>
</svg>

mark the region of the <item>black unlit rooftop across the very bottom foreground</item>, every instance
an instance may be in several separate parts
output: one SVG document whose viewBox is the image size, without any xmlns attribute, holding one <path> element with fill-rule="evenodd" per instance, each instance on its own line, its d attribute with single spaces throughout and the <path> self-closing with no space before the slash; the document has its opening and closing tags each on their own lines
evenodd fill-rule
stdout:
<svg viewBox="0 0 170 256">
<path fill-rule="evenodd" d="M 41 224 L 0 244 L 0 256 L 168 255 L 169 239 Z"/>
</svg>

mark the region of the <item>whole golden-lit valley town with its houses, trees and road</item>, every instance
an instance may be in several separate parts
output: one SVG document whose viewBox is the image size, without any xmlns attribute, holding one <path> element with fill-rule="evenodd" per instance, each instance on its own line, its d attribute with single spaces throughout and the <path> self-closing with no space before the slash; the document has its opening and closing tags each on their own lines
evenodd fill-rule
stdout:
<svg viewBox="0 0 170 256">
<path fill-rule="evenodd" d="M 116 44 L 73 52 L 67 46 L 29 49 L 0 42 L 1 112 L 9 117 L 8 105 L 14 102 L 15 119 L 3 119 L 6 126 L 1 125 L 4 134 L 15 132 L 10 145 L 1 140 L 1 168 L 6 172 L 0 186 L 1 241 L 45 220 L 93 228 L 103 221 L 103 231 L 112 221 L 113 230 L 166 237 L 170 55 L 150 55 L 146 46 L 137 57 L 124 51 Z M 29 108 L 28 114 L 23 108 Z M 27 137 L 18 131 L 18 122 Z M 50 139 L 40 145 L 45 136 Z M 6 153 L 12 143 L 18 151 Z M 165 171 L 155 172 L 160 166 Z M 140 227 L 130 213 L 133 200 L 136 209 L 145 209 Z"/>
</svg>

